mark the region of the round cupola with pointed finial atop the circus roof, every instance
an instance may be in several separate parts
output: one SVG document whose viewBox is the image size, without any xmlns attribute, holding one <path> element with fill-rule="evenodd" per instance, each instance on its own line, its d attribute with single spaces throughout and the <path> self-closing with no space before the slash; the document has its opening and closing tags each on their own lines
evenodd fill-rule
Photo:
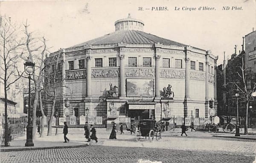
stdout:
<svg viewBox="0 0 256 163">
<path fill-rule="evenodd" d="M 125 19 L 120 19 L 115 22 L 116 31 L 124 30 L 137 30 L 143 31 L 144 22 L 131 18 L 131 14 L 128 14 L 128 17 Z"/>
</svg>

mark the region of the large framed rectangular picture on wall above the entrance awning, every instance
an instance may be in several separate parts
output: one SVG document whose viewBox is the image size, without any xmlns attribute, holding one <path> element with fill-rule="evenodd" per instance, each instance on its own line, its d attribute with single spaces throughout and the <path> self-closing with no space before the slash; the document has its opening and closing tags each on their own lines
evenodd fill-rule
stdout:
<svg viewBox="0 0 256 163">
<path fill-rule="evenodd" d="M 153 79 L 127 79 L 126 93 L 128 97 L 153 97 L 154 80 Z"/>
</svg>

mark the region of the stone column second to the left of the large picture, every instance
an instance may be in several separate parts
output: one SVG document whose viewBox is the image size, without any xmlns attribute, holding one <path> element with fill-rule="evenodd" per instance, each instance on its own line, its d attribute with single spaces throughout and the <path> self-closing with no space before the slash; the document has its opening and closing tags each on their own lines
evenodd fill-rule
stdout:
<svg viewBox="0 0 256 163">
<path fill-rule="evenodd" d="M 88 49 L 86 51 L 86 73 L 87 73 L 87 76 L 86 76 L 86 84 L 87 84 L 87 88 L 86 88 L 86 91 L 87 91 L 87 97 L 91 97 L 92 96 L 92 87 L 91 87 L 91 83 L 92 83 L 92 58 L 90 56 L 90 49 Z"/>
</svg>

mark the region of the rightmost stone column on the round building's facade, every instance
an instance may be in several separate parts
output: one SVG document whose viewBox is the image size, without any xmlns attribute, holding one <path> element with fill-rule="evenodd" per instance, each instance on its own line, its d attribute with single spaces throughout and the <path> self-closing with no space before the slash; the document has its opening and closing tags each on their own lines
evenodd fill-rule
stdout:
<svg viewBox="0 0 256 163">
<path fill-rule="evenodd" d="M 208 71 L 208 56 L 210 54 L 210 51 L 206 52 L 205 55 L 205 118 L 208 118 L 208 104 L 209 104 L 209 71 Z"/>
</svg>

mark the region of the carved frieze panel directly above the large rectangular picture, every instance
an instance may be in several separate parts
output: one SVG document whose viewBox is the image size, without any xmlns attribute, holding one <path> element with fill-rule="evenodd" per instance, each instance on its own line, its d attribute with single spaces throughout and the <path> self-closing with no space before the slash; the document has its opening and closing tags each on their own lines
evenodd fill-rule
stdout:
<svg viewBox="0 0 256 163">
<path fill-rule="evenodd" d="M 126 77 L 154 77 L 154 69 L 151 68 L 126 68 L 125 69 Z"/>
</svg>

